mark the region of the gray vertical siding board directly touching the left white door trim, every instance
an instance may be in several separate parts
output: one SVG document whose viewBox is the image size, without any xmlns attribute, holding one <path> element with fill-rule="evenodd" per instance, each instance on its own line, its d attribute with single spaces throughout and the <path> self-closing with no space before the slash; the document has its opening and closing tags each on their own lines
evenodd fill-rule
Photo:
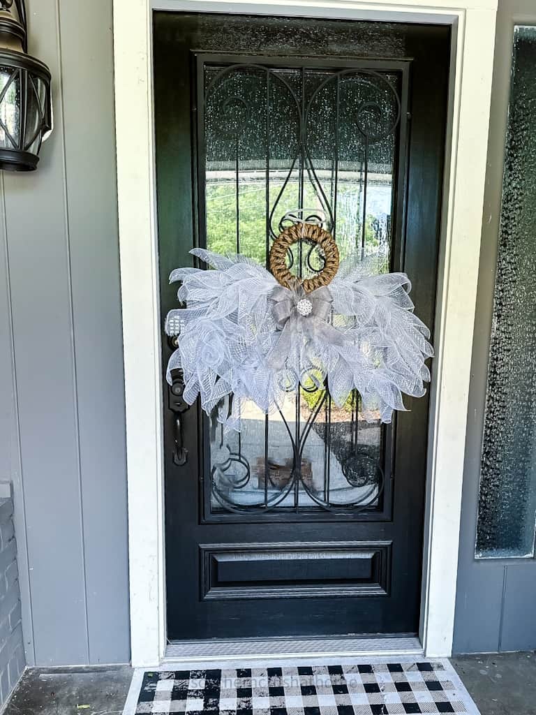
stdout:
<svg viewBox="0 0 536 715">
<path fill-rule="evenodd" d="M 97 13 L 93 3 L 61 0 L 65 159 L 77 171 L 67 201 L 92 663 L 129 655 L 111 0 L 105 16 L 102 5 Z"/>
</svg>

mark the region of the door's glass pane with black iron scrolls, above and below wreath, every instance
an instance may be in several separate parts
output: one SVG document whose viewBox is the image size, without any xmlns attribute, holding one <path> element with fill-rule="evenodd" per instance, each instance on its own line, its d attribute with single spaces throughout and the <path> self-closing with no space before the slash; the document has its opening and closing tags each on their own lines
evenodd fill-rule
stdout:
<svg viewBox="0 0 536 715">
<path fill-rule="evenodd" d="M 401 111 L 396 82 L 393 73 L 372 69 L 234 64 L 207 72 L 205 66 L 207 247 L 257 252 L 252 257 L 267 261 L 294 207 L 302 220 L 332 233 L 343 257 L 363 257 L 370 240 L 388 244 L 390 215 L 369 215 L 367 192 L 370 166 L 379 175 L 387 155 L 394 176 Z M 348 176 L 359 176 L 356 216 L 347 207 Z M 261 207 L 253 194 L 262 189 Z M 253 201 L 263 217 L 262 227 L 255 224 L 257 237 L 265 235 L 262 247 L 244 235 Z M 236 217 L 232 240 L 222 239 L 218 224 L 225 212 Z M 229 242 L 220 245 L 223 240 Z M 323 257 L 314 244 L 301 242 L 289 249 L 287 265 L 301 279 L 320 272 Z M 292 409 L 293 415 L 288 408 L 270 417 L 253 415 L 255 439 L 244 429 L 225 433 L 214 415 L 207 440 L 212 511 L 355 513 L 377 506 L 385 482 L 385 433 L 379 422 L 367 427 L 359 395 L 337 408 L 326 386 L 312 379 Z"/>
</svg>

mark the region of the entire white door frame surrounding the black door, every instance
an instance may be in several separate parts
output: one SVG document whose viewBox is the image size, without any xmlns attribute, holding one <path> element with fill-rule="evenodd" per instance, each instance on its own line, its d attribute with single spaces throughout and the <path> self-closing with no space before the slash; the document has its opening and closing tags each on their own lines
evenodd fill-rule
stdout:
<svg viewBox="0 0 536 715">
<path fill-rule="evenodd" d="M 158 0 L 156 9 L 452 24 L 452 78 L 431 385 L 421 638 L 449 656 L 497 0 Z M 166 648 L 162 370 L 150 0 L 114 0 L 131 657 Z"/>
</svg>

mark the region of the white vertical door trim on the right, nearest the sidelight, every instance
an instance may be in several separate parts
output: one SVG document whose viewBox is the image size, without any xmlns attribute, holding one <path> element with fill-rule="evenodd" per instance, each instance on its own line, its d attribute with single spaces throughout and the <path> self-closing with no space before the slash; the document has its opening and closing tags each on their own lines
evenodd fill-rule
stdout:
<svg viewBox="0 0 536 715">
<path fill-rule="evenodd" d="M 468 7 L 457 32 L 430 408 L 422 606 L 429 657 L 452 652 L 495 17 Z"/>
</svg>

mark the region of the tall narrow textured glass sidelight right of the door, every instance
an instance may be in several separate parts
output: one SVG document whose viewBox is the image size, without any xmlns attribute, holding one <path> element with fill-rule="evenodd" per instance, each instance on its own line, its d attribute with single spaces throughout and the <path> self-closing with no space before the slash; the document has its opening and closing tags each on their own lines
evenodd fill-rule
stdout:
<svg viewBox="0 0 536 715">
<path fill-rule="evenodd" d="M 536 27 L 515 28 L 477 523 L 477 558 L 534 555 Z"/>
</svg>

